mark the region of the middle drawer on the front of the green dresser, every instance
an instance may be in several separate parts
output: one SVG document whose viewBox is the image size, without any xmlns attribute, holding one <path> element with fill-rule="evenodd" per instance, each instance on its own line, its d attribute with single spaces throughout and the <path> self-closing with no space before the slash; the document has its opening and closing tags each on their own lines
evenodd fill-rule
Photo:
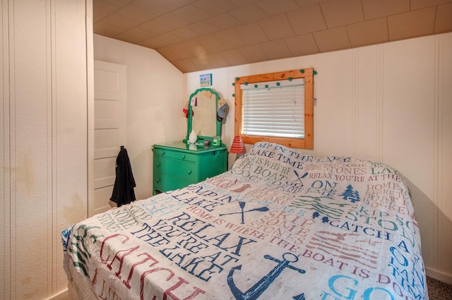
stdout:
<svg viewBox="0 0 452 300">
<path fill-rule="evenodd" d="M 198 178 L 198 167 L 194 162 L 186 161 L 181 163 L 179 160 L 169 159 L 167 157 L 154 158 L 154 172 L 157 174 L 171 174 L 172 176 L 194 182 Z"/>
</svg>

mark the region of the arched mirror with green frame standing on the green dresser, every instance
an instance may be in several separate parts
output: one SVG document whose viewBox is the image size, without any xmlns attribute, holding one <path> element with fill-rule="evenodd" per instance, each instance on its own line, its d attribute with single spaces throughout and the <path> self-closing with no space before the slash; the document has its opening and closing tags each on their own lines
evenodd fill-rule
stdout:
<svg viewBox="0 0 452 300">
<path fill-rule="evenodd" d="M 220 95 L 211 88 L 198 88 L 189 97 L 187 129 L 184 143 L 188 143 L 191 131 L 198 136 L 197 143 L 212 142 L 221 136 L 222 121 L 217 118 Z M 212 145 L 212 143 L 210 143 Z"/>
</svg>

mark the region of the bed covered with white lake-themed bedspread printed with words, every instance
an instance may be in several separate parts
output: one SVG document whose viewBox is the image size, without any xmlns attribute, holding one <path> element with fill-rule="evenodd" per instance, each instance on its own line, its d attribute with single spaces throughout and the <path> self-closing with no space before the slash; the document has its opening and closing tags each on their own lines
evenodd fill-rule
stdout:
<svg viewBox="0 0 452 300">
<path fill-rule="evenodd" d="M 274 143 L 62 236 L 74 299 L 428 299 L 403 175 Z"/>
</svg>

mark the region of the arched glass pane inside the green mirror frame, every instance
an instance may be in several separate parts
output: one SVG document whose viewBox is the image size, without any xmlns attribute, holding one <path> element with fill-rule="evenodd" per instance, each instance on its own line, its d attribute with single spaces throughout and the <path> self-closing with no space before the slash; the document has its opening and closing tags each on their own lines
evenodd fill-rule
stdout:
<svg viewBox="0 0 452 300">
<path fill-rule="evenodd" d="M 191 97 L 193 116 L 191 128 L 197 136 L 215 136 L 217 132 L 217 96 L 210 90 L 200 90 Z"/>
</svg>

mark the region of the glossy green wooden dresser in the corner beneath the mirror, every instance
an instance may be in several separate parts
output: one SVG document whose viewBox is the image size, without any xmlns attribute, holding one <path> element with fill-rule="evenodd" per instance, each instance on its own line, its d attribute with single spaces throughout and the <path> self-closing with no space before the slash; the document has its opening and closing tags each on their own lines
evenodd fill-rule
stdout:
<svg viewBox="0 0 452 300">
<path fill-rule="evenodd" d="M 227 171 L 227 148 L 170 142 L 153 145 L 153 193 L 172 191 Z"/>
</svg>

